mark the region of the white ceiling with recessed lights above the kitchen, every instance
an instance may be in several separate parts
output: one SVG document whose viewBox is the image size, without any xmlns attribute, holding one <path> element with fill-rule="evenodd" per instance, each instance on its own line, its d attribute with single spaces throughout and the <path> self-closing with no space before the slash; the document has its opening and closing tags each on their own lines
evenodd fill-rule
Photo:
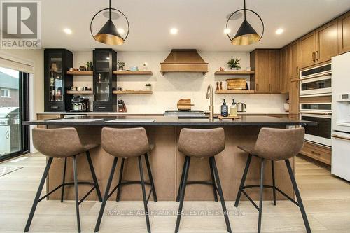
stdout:
<svg viewBox="0 0 350 233">
<path fill-rule="evenodd" d="M 231 45 L 223 33 L 227 16 L 243 8 L 243 0 L 112 0 L 112 8 L 122 10 L 130 21 L 130 35 L 123 45 L 104 45 L 94 41 L 90 21 L 97 11 L 107 8 L 108 0 L 41 1 L 43 48 L 89 51 L 113 48 L 118 51 L 166 51 L 172 48 L 197 48 L 201 51 L 248 52 L 255 48 L 281 48 L 308 31 L 350 9 L 349 0 L 246 0 L 247 8 L 257 12 L 265 23 L 262 40 L 254 45 Z M 248 18 L 252 15 L 248 15 Z M 125 22 L 118 19 L 117 27 Z M 232 36 L 242 20 L 230 21 Z M 106 18 L 97 16 L 97 33 Z M 238 24 L 238 26 L 237 26 Z M 251 18 L 258 33 L 258 19 Z M 233 26 L 236 25 L 236 26 Z M 169 34 L 173 27 L 176 35 Z M 73 31 L 65 34 L 64 28 Z M 276 35 L 276 29 L 284 33 Z"/>
</svg>

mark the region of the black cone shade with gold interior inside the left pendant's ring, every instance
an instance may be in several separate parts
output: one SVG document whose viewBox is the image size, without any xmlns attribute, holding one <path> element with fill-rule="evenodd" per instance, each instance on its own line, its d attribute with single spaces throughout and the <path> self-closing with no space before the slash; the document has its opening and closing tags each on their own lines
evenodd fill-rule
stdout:
<svg viewBox="0 0 350 233">
<path fill-rule="evenodd" d="M 118 33 L 112 20 L 108 20 L 106 24 L 104 24 L 104 27 L 99 30 L 94 36 L 94 39 L 107 45 L 122 45 L 124 43 L 124 39 Z"/>
</svg>

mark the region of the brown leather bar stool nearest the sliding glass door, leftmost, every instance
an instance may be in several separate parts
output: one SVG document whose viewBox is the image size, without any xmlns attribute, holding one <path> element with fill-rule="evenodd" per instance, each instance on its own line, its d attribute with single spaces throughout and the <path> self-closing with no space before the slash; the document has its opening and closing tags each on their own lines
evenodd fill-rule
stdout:
<svg viewBox="0 0 350 233">
<path fill-rule="evenodd" d="M 36 196 L 34 198 L 33 206 L 31 207 L 31 211 L 29 213 L 29 217 L 27 220 L 27 225 L 25 226 L 25 232 L 29 231 L 29 227 L 31 225 L 31 220 L 33 219 L 34 212 L 38 202 L 48 197 L 52 192 L 55 192 L 59 188 L 62 188 L 61 192 L 61 202 L 63 202 L 64 195 L 64 186 L 66 185 L 74 185 L 75 195 L 76 195 L 76 220 L 78 224 L 78 232 L 80 232 L 80 216 L 79 216 L 79 204 L 84 201 L 84 199 L 90 195 L 90 193 L 95 189 L 97 192 L 97 196 L 99 197 L 99 202 L 102 202 L 101 192 L 99 190 L 99 184 L 97 183 L 96 174 L 94 173 L 94 167 L 92 165 L 92 160 L 90 157 L 90 152 L 92 148 L 99 146 L 98 144 L 88 144 L 83 145 L 80 142 L 78 132 L 74 128 L 62 128 L 62 129 L 33 129 L 33 145 L 38 152 L 48 157 L 48 163 L 46 164 L 45 170 L 43 172 L 43 177 L 41 178 L 40 185 L 38 187 L 38 191 L 36 192 Z M 76 164 L 76 156 L 81 153 L 85 153 L 87 162 L 90 166 L 90 171 L 92 175 L 93 182 L 85 182 L 78 181 L 77 179 L 77 164 Z M 66 183 L 66 159 L 67 157 L 73 157 L 73 176 L 74 181 Z M 43 190 L 43 185 L 45 183 L 45 179 L 48 176 L 48 171 L 50 170 L 50 166 L 52 160 L 54 158 L 64 158 L 64 171 L 63 171 L 63 181 L 61 185 L 58 185 L 52 191 L 48 192 L 48 194 L 40 197 L 41 191 Z M 80 201 L 78 200 L 78 185 L 93 185 L 91 190 L 84 195 Z"/>
</svg>

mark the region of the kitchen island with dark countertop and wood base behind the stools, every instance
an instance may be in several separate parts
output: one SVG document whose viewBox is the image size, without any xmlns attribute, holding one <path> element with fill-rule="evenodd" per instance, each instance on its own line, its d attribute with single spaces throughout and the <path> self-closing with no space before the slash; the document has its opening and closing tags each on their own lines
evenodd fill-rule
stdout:
<svg viewBox="0 0 350 233">
<path fill-rule="evenodd" d="M 144 127 L 150 143 L 155 144 L 151 152 L 151 167 L 155 188 L 160 201 L 176 200 L 179 188 L 184 156 L 177 150 L 179 133 L 183 127 L 225 129 L 225 150 L 216 156 L 221 184 L 225 199 L 232 201 L 237 195 L 239 182 L 243 174 L 247 155 L 237 148 L 238 145 L 253 145 L 261 127 L 297 127 L 300 125 L 316 125 L 316 122 L 291 120 L 288 118 L 274 118 L 266 116 L 242 116 L 237 120 L 209 121 L 207 118 L 178 118 L 164 116 L 93 116 L 71 117 L 63 119 L 33 120 L 23 122 L 23 125 L 38 125 L 39 127 L 60 128 L 75 127 L 83 143 L 100 143 L 102 127 Z M 64 135 L 62 135 L 64 136 Z M 55 143 L 55 141 L 52 141 Z M 118 141 L 116 141 L 118 143 Z M 113 157 L 98 147 L 91 151 L 94 169 L 97 174 L 102 193 L 111 169 Z M 196 160 L 196 161 L 195 161 Z M 293 159 L 292 159 L 293 160 Z M 291 161 L 294 164 L 294 161 Z M 47 189 L 52 190 L 62 183 L 64 160 L 53 160 L 48 176 Z M 72 162 L 67 162 L 66 181 L 73 178 Z M 265 169 L 265 184 L 272 183 L 271 164 L 267 163 Z M 118 181 L 120 162 L 113 178 L 112 187 Z M 188 181 L 209 181 L 210 171 L 207 159 L 193 158 L 190 165 Z M 127 181 L 139 180 L 137 160 L 127 159 L 124 167 L 123 179 Z M 144 169 L 146 171 L 146 168 Z M 276 185 L 288 195 L 293 195 L 293 188 L 288 178 L 284 162 L 275 163 Z M 246 185 L 258 184 L 260 178 L 260 164 L 257 158 L 253 158 L 246 179 Z M 78 179 L 89 181 L 90 170 L 85 156 L 78 156 Z M 186 188 L 186 200 L 214 200 L 213 190 L 210 185 L 188 185 Z M 79 187 L 80 195 L 87 192 L 90 187 Z M 148 191 L 148 188 L 147 188 Z M 247 191 L 253 199 L 258 198 L 258 189 Z M 272 199 L 272 191 L 264 191 L 264 199 Z M 65 199 L 73 199 L 73 188 L 65 189 Z M 60 192 L 50 195 L 50 199 L 59 199 Z M 81 196 L 82 197 L 82 196 Z M 151 197 L 152 198 L 152 197 Z M 284 199 L 277 195 L 278 199 Z M 96 193 L 92 192 L 88 199 L 97 199 Z M 125 185 L 121 192 L 121 200 L 141 200 L 141 185 Z"/>
</svg>

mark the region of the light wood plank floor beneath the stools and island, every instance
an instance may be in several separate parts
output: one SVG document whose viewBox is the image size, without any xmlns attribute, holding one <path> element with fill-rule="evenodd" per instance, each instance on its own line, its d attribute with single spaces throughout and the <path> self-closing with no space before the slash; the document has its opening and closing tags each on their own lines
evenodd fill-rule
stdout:
<svg viewBox="0 0 350 233">
<path fill-rule="evenodd" d="M 25 227 L 45 166 L 45 157 L 42 155 L 25 157 L 27 159 L 18 162 L 0 164 L 24 167 L 0 177 L 0 232 L 23 232 Z M 296 161 L 297 183 L 313 232 L 350 232 L 350 184 L 306 160 L 297 158 Z M 239 208 L 235 208 L 233 202 L 226 202 L 226 205 L 228 211 L 232 211 L 230 223 L 233 232 L 256 232 L 258 211 L 250 202 L 240 202 Z M 93 232 L 99 206 L 97 202 L 83 202 L 80 205 L 83 232 Z M 151 211 L 158 211 L 151 217 L 152 232 L 174 232 L 176 216 L 162 215 L 161 211 L 176 211 L 178 203 L 150 202 L 148 206 Z M 126 212 L 143 209 L 142 202 L 108 202 L 106 210 L 123 211 L 123 214 L 128 215 L 104 215 L 100 232 L 146 232 L 144 216 L 135 216 L 131 212 Z M 185 202 L 184 210 L 192 215 L 183 216 L 180 232 L 226 232 L 223 216 L 195 214 L 201 210 L 207 213 L 221 211 L 220 202 Z M 30 230 L 31 232 L 76 232 L 74 202 L 60 203 L 46 200 L 40 202 Z M 288 201 L 277 202 L 277 206 L 273 206 L 271 202 L 264 202 L 262 231 L 305 232 L 299 209 Z"/>
</svg>

